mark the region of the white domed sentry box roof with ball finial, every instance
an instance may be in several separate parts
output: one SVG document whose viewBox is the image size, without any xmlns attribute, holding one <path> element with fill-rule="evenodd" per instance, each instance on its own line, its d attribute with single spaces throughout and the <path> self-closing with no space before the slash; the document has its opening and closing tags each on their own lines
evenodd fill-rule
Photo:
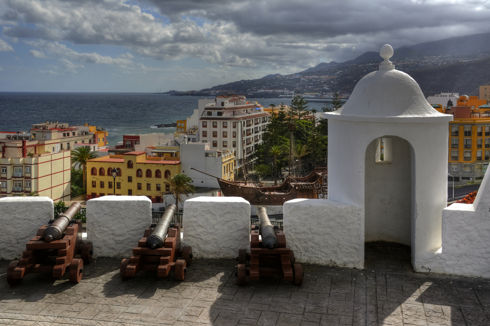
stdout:
<svg viewBox="0 0 490 326">
<path fill-rule="evenodd" d="M 391 45 L 383 45 L 379 54 L 385 59 L 379 70 L 364 76 L 342 108 L 324 113 L 325 119 L 410 123 L 453 120 L 452 115 L 431 107 L 412 77 L 395 69 L 389 61 L 393 55 Z"/>
</svg>

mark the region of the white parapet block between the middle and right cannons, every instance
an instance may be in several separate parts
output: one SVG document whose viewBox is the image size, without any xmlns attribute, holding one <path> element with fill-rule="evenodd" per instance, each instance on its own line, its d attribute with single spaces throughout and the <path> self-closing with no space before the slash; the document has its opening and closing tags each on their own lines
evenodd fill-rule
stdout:
<svg viewBox="0 0 490 326">
<path fill-rule="evenodd" d="M 242 197 L 197 197 L 184 203 L 183 245 L 195 258 L 229 259 L 250 249 L 250 203 Z"/>
</svg>

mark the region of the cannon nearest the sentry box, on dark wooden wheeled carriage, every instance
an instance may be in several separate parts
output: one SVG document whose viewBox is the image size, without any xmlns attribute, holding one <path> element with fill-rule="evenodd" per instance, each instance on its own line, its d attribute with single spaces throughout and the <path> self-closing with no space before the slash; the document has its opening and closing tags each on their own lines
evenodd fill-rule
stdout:
<svg viewBox="0 0 490 326">
<path fill-rule="evenodd" d="M 303 267 L 294 262 L 293 250 L 286 248 L 284 232 L 272 225 L 265 207 L 259 207 L 257 213 L 259 224 L 250 227 L 250 250 L 238 251 L 237 284 L 245 285 L 247 276 L 250 281 L 279 276 L 294 284 L 303 283 Z"/>
</svg>

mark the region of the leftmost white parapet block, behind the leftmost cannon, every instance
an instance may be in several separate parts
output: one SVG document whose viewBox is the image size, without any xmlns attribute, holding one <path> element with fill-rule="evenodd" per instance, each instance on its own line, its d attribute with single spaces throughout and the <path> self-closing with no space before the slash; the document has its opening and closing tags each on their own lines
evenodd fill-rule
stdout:
<svg viewBox="0 0 490 326">
<path fill-rule="evenodd" d="M 54 208 L 49 197 L 0 198 L 0 259 L 22 257 L 27 241 L 52 218 Z"/>
</svg>

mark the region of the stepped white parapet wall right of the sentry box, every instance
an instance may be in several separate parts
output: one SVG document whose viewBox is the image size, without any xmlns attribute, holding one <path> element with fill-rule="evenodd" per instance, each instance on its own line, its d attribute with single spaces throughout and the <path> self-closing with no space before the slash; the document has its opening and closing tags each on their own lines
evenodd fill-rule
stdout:
<svg viewBox="0 0 490 326">
<path fill-rule="evenodd" d="M 423 252 L 421 271 L 490 278 L 490 175 L 473 204 L 442 210 L 442 247 Z"/>
</svg>

